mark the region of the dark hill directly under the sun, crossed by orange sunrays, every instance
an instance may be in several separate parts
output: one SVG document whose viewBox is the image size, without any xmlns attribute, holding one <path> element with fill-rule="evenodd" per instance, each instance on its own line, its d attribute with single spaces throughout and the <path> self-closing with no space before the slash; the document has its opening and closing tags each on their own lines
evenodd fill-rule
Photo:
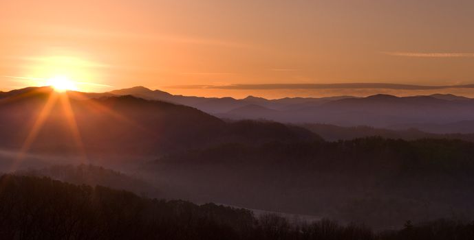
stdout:
<svg viewBox="0 0 474 240">
<path fill-rule="evenodd" d="M 26 88 L 2 96 L 3 149 L 156 156 L 227 141 L 320 140 L 303 128 L 225 123 L 195 108 L 130 95 L 57 94 L 50 88 Z"/>
</svg>

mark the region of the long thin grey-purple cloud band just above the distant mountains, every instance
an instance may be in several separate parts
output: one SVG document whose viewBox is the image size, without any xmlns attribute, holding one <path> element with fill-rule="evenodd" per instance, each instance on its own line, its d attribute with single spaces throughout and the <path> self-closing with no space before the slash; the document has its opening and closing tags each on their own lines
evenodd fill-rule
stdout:
<svg viewBox="0 0 474 240">
<path fill-rule="evenodd" d="M 396 90 L 436 90 L 446 88 L 474 88 L 474 84 L 422 86 L 409 84 L 349 83 L 349 84 L 230 84 L 230 85 L 175 85 L 166 88 L 180 89 L 226 89 L 226 90 L 277 90 L 277 89 L 396 89 Z"/>
</svg>

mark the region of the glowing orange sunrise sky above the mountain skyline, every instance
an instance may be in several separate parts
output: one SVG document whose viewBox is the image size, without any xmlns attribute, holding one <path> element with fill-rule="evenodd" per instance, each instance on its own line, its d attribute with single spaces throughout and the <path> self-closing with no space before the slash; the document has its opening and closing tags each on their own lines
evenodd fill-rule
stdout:
<svg viewBox="0 0 474 240">
<path fill-rule="evenodd" d="M 474 97 L 474 88 L 295 87 L 474 84 L 472 0 L 0 0 L 0 16 L 0 91 L 61 75 L 95 92 Z"/>
</svg>

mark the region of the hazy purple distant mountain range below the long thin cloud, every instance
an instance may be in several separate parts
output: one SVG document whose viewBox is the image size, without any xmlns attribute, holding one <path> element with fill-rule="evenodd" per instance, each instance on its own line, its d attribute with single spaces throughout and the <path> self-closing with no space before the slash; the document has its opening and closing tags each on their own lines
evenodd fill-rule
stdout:
<svg viewBox="0 0 474 240">
<path fill-rule="evenodd" d="M 432 133 L 473 133 L 474 99 L 455 95 L 396 97 L 322 97 L 245 99 L 186 97 L 144 87 L 111 91 L 193 106 L 228 119 L 267 119 L 285 123 L 327 123 L 342 126 L 369 125 L 396 130 L 418 128 Z"/>
</svg>

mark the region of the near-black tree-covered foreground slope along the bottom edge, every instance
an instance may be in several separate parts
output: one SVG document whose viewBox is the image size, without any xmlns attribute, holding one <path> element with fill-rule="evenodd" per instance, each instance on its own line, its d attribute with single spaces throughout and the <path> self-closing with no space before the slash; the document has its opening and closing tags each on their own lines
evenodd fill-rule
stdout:
<svg viewBox="0 0 474 240">
<path fill-rule="evenodd" d="M 334 221 L 258 219 L 245 209 L 138 197 L 127 191 L 26 176 L 0 177 L 3 239 L 472 239 L 474 226 L 455 221 L 407 222 L 376 234 Z"/>
</svg>

